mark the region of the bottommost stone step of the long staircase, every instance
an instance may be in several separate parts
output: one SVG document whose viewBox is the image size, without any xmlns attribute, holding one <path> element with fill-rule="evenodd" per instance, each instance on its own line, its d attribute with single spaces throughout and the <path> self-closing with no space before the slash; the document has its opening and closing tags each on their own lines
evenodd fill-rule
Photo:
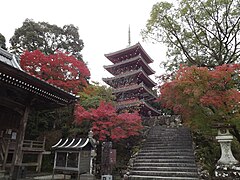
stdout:
<svg viewBox="0 0 240 180">
<path fill-rule="evenodd" d="M 131 175 L 128 178 L 129 180 L 158 180 L 158 179 L 165 179 L 165 180 L 198 180 L 199 178 L 194 177 L 164 177 L 164 176 L 140 176 L 140 175 Z"/>
</svg>

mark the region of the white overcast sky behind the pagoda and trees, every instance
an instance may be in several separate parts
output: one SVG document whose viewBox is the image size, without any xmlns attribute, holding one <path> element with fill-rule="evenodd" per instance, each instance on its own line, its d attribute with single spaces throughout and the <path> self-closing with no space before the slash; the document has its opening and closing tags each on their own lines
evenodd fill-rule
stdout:
<svg viewBox="0 0 240 180">
<path fill-rule="evenodd" d="M 166 48 L 160 44 L 142 42 L 140 35 L 152 6 L 157 2 L 158 0 L 5 0 L 1 1 L 0 33 L 8 42 L 26 18 L 61 27 L 74 24 L 79 28 L 80 38 L 85 45 L 82 54 L 91 71 L 91 80 L 102 84 L 102 77 L 111 77 L 103 69 L 103 65 L 111 64 L 104 54 L 127 47 L 130 25 L 131 44 L 142 44 L 154 60 L 150 66 L 159 75 L 162 72 L 159 64 L 165 59 Z"/>
</svg>

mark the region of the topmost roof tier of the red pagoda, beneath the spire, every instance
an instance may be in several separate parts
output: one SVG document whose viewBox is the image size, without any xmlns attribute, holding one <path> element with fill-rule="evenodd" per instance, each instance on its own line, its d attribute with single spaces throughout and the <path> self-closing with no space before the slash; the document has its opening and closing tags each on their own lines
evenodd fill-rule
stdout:
<svg viewBox="0 0 240 180">
<path fill-rule="evenodd" d="M 141 55 L 147 63 L 153 62 L 152 58 L 146 53 L 140 43 L 119 51 L 105 54 L 105 57 L 115 64 L 138 55 Z"/>
</svg>

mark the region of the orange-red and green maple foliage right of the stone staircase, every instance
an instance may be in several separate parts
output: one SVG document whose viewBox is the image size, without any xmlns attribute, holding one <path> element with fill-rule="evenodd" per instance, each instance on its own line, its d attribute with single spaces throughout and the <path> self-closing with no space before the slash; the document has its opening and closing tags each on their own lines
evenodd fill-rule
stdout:
<svg viewBox="0 0 240 180">
<path fill-rule="evenodd" d="M 227 120 L 239 114 L 240 65 L 180 67 L 175 79 L 160 86 L 160 102 L 175 113 L 190 117 L 203 112 L 215 120 Z M 214 117 L 213 117 L 214 119 Z"/>
</svg>

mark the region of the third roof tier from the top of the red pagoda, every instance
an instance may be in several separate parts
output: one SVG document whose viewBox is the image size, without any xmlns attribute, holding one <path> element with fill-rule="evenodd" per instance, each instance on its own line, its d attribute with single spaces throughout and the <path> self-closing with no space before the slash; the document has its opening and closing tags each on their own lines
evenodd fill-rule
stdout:
<svg viewBox="0 0 240 180">
<path fill-rule="evenodd" d="M 114 81 L 119 81 L 121 78 L 127 78 L 129 76 L 138 76 L 139 78 L 142 79 L 142 81 L 148 86 L 148 87 L 154 87 L 157 84 L 148 77 L 148 75 L 143 71 L 142 68 L 139 68 L 138 70 L 134 70 L 134 71 L 128 71 L 127 73 L 124 74 L 120 74 L 118 76 L 115 77 L 111 77 L 111 78 L 103 78 L 102 80 L 107 83 L 109 86 L 113 87 L 113 88 L 117 88 L 117 84 L 114 83 Z"/>
</svg>

